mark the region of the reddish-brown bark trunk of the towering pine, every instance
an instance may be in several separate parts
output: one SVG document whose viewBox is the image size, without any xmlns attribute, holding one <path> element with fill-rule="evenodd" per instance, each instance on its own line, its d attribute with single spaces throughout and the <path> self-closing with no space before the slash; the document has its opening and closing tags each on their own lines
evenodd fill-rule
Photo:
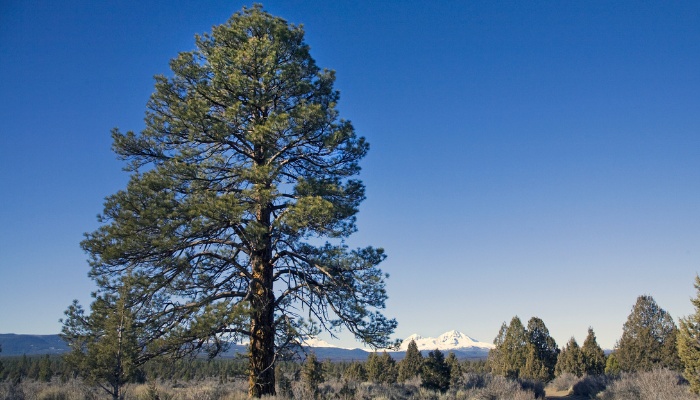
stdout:
<svg viewBox="0 0 700 400">
<path fill-rule="evenodd" d="M 270 211 L 258 213 L 258 222 L 270 226 Z M 250 318 L 250 375 L 248 395 L 262 397 L 275 395 L 275 331 L 274 303 L 272 291 L 272 245 L 269 235 L 259 243 L 253 253 L 253 282 L 251 283 Z"/>
</svg>

